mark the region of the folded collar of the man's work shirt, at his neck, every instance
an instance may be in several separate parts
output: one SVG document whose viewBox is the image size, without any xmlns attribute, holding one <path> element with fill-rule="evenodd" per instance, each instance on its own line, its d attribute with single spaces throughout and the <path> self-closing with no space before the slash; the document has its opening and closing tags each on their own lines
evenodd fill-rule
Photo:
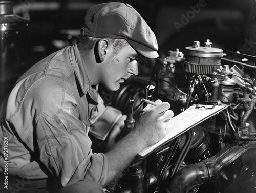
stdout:
<svg viewBox="0 0 256 193">
<path fill-rule="evenodd" d="M 76 44 L 70 47 L 69 58 L 83 94 L 86 95 L 88 93 L 89 96 L 97 103 L 98 93 L 96 90 L 96 86 L 92 87 L 92 85 L 90 84 L 85 69 L 86 64 L 83 62 Z"/>
</svg>

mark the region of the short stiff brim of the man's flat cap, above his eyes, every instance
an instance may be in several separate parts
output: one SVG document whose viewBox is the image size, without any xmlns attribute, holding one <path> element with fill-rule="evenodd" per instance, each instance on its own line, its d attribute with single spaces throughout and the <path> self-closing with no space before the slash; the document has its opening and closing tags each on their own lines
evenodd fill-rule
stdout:
<svg viewBox="0 0 256 193">
<path fill-rule="evenodd" d="M 143 44 L 140 44 L 136 41 L 133 41 L 131 39 L 126 39 L 126 41 L 140 54 L 147 58 L 157 58 L 159 57 L 157 51 L 148 48 L 147 46 L 144 46 Z"/>
</svg>

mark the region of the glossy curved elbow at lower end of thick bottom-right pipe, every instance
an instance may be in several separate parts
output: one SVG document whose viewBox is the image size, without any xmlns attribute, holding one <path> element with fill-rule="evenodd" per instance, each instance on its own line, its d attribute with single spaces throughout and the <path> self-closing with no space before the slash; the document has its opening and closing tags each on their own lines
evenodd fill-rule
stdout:
<svg viewBox="0 0 256 193">
<path fill-rule="evenodd" d="M 207 182 L 209 177 L 208 168 L 204 162 L 188 165 L 172 178 L 166 185 L 167 193 L 187 193 L 190 189 Z"/>
</svg>

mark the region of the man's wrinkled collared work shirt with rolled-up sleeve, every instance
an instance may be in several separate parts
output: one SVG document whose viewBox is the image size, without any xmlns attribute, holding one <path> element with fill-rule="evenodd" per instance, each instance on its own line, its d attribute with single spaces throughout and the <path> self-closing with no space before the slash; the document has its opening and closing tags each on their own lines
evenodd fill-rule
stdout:
<svg viewBox="0 0 256 193">
<path fill-rule="evenodd" d="M 108 159 L 92 153 L 87 135 L 97 91 L 84 66 L 75 44 L 42 59 L 19 78 L 1 109 L 0 173 L 8 139 L 10 175 L 51 175 L 62 186 L 84 179 L 105 183 Z"/>
</svg>

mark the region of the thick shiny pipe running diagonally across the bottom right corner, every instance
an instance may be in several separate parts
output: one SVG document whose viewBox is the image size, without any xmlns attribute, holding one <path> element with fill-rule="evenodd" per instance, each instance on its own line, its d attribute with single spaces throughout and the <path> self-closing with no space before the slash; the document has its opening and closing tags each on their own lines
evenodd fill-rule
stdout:
<svg viewBox="0 0 256 193">
<path fill-rule="evenodd" d="M 179 170 L 178 173 L 170 179 L 169 183 L 166 182 L 166 192 L 188 193 L 193 192 L 191 189 L 196 188 L 201 184 L 207 184 L 208 182 L 212 183 L 212 180 L 216 179 L 221 171 L 223 171 L 223 168 L 226 168 L 229 165 L 231 166 L 231 163 L 237 159 L 242 159 L 241 156 L 245 152 L 255 148 L 255 141 L 250 141 L 248 143 L 239 142 L 234 146 L 227 144 L 211 158 L 188 165 Z M 243 171 L 242 168 L 241 171 Z M 241 178 L 244 178 L 244 174 L 241 175 L 243 176 Z"/>
</svg>

